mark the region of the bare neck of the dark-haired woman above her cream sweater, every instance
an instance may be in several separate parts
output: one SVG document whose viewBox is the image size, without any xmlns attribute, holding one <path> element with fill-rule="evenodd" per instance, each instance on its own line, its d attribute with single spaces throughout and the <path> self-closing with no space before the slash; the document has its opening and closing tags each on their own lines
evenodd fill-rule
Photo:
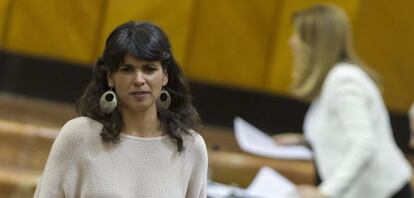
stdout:
<svg viewBox="0 0 414 198">
<path fill-rule="evenodd" d="M 128 135 L 138 137 L 157 137 L 163 135 L 155 108 L 144 112 L 123 111 L 124 130 Z"/>
</svg>

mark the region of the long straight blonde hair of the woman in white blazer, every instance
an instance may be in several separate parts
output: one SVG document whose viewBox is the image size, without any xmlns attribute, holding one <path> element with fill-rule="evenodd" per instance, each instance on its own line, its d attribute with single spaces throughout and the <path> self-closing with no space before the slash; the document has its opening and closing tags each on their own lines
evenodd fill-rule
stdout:
<svg viewBox="0 0 414 198">
<path fill-rule="evenodd" d="M 355 53 L 350 23 L 341 8 L 317 4 L 294 13 L 292 20 L 305 48 L 303 59 L 294 65 L 291 90 L 295 96 L 305 100 L 317 97 L 329 70 L 339 62 L 358 65 L 378 84 L 377 75 Z"/>
</svg>

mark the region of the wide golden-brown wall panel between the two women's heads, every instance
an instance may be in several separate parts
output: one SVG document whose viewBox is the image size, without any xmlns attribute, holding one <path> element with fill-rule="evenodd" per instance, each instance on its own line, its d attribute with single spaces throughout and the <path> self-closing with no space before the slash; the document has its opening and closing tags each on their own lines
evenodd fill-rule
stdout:
<svg viewBox="0 0 414 198">
<path fill-rule="evenodd" d="M 263 90 L 274 18 L 282 1 L 198 1 L 188 51 L 189 76 L 225 86 Z"/>
</svg>

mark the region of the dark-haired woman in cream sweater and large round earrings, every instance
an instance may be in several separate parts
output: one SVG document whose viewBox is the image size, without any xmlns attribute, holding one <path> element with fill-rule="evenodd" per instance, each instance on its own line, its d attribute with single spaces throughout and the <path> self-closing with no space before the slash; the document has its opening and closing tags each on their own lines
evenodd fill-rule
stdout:
<svg viewBox="0 0 414 198">
<path fill-rule="evenodd" d="M 117 27 L 76 108 L 35 197 L 206 197 L 199 116 L 159 27 Z"/>
</svg>

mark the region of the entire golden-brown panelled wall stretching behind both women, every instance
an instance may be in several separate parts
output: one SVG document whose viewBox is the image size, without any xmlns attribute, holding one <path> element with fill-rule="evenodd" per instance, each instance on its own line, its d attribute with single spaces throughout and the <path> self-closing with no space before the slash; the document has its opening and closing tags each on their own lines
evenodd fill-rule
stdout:
<svg viewBox="0 0 414 198">
<path fill-rule="evenodd" d="M 114 27 L 159 24 L 190 79 L 288 94 L 293 11 L 318 2 L 343 7 L 357 51 L 382 76 L 388 107 L 414 101 L 413 1 L 395 0 L 0 0 L 0 48 L 90 64 Z"/>
</svg>

